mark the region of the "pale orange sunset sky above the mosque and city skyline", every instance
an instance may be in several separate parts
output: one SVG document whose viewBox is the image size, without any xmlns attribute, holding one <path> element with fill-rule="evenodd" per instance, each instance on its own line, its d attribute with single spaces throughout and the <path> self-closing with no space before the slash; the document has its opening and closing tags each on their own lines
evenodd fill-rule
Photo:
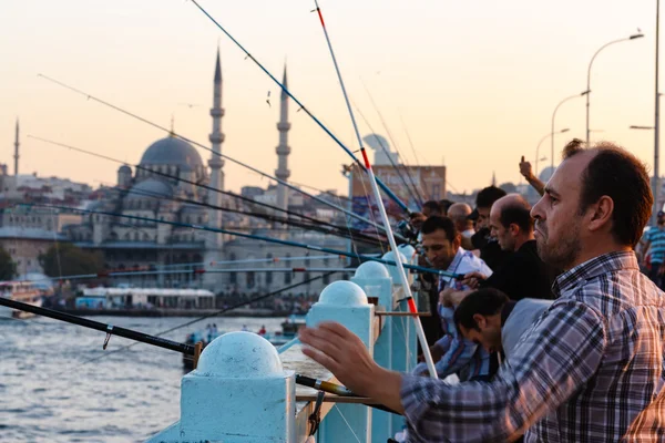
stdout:
<svg viewBox="0 0 665 443">
<path fill-rule="evenodd" d="M 357 148 L 314 1 L 201 0 L 274 74 L 288 63 L 293 93 Z M 653 166 L 655 0 L 336 0 L 319 2 L 351 99 L 386 134 L 372 94 L 402 156 L 448 167 L 452 187 L 519 183 L 521 155 L 533 161 L 552 111 L 586 89 L 586 70 L 604 43 L 640 28 L 645 38 L 605 49 L 592 70 L 594 140 L 615 141 Z M 93 186 L 114 183 L 117 165 L 28 138 L 52 138 L 139 163 L 164 133 L 57 86 L 38 73 L 208 144 L 215 51 L 222 53 L 226 116 L 223 152 L 274 173 L 278 87 L 196 7 L 185 0 L 0 1 L 0 162 L 13 165 L 21 121 L 21 173 Z M 272 92 L 273 106 L 266 104 Z M 187 106 L 183 103 L 191 103 Z M 584 138 L 584 99 L 565 103 L 557 151 Z M 362 123 L 362 134 L 370 131 Z M 402 120 L 406 124 L 402 125 Z M 294 182 L 346 193 L 349 157 L 291 105 Z M 209 153 L 198 150 L 204 159 Z M 550 143 L 541 156 L 550 157 Z M 559 161 L 556 155 L 555 163 Z M 550 164 L 548 158 L 544 162 Z M 542 165 L 542 162 L 541 162 Z M 11 169 L 11 168 L 10 168 Z M 13 171 L 13 169 L 11 169 Z M 267 185 L 225 165 L 226 187 Z M 449 190 L 451 188 L 449 187 Z"/>
</svg>

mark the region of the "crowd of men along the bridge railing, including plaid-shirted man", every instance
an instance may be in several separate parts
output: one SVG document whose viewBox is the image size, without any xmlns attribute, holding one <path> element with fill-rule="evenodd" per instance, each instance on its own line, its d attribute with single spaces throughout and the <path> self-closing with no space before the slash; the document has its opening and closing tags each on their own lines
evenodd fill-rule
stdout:
<svg viewBox="0 0 665 443">
<path fill-rule="evenodd" d="M 420 265 L 457 276 L 419 278 L 436 371 L 460 383 L 383 369 L 338 323 L 304 329 L 304 352 L 402 413 L 409 442 L 665 442 L 665 214 L 644 234 L 644 165 L 574 140 L 548 184 L 520 169 L 533 207 L 490 186 L 411 219 Z"/>
</svg>

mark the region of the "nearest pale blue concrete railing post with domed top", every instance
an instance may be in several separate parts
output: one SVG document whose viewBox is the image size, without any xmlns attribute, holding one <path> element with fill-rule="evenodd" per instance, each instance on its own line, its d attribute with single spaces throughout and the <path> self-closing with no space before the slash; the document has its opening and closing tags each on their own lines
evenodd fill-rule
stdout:
<svg viewBox="0 0 665 443">
<path fill-rule="evenodd" d="M 295 441 L 296 384 L 277 350 L 253 332 L 213 340 L 183 377 L 181 420 L 147 443 Z"/>
</svg>

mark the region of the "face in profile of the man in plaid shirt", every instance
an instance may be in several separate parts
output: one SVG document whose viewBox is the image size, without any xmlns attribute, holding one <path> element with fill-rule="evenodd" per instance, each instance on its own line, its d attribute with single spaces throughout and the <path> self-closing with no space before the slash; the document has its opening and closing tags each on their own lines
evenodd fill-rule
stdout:
<svg viewBox="0 0 665 443">
<path fill-rule="evenodd" d="M 582 250 L 583 214 L 580 213 L 582 175 L 590 156 L 580 153 L 564 161 L 531 209 L 535 218 L 538 255 L 548 265 L 570 269 Z"/>
</svg>

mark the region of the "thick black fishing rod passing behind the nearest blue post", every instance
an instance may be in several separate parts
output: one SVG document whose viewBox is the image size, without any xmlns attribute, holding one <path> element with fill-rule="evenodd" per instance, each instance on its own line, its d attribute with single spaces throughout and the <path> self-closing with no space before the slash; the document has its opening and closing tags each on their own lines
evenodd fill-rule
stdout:
<svg viewBox="0 0 665 443">
<path fill-rule="evenodd" d="M 156 337 L 156 336 L 151 336 L 151 334 L 147 334 L 144 332 L 135 331 L 133 329 L 121 328 L 121 327 L 113 326 L 110 323 L 102 323 L 100 321 L 89 320 L 83 317 L 72 316 L 70 313 L 54 311 L 54 310 L 48 309 L 48 308 L 41 308 L 38 306 L 23 303 L 21 301 L 11 300 L 11 299 L 4 298 L 4 297 L 0 297 L 0 306 L 4 306 L 4 307 L 11 308 L 11 309 L 17 309 L 17 310 L 24 311 L 24 312 L 35 313 L 38 316 L 48 317 L 48 318 L 51 318 L 54 320 L 64 321 L 66 323 L 78 324 L 83 328 L 94 329 L 94 330 L 98 330 L 101 332 L 105 332 L 106 338 L 104 339 L 104 344 L 102 347 L 104 350 L 106 349 L 106 346 L 109 344 L 109 340 L 110 340 L 111 336 L 117 336 L 117 337 L 122 337 L 125 339 L 134 340 L 136 342 L 151 344 L 156 348 L 162 348 L 162 349 L 167 349 L 170 351 L 176 351 L 180 353 L 184 353 L 185 356 L 192 356 L 194 358 L 197 357 L 196 356 L 196 353 L 197 353 L 196 346 L 180 343 L 177 341 L 163 339 L 163 338 Z M 358 396 L 341 385 L 311 379 L 311 378 L 305 377 L 305 375 L 298 374 L 298 377 L 296 378 L 296 383 L 305 385 L 305 387 L 313 387 L 313 384 L 318 385 L 317 389 L 320 391 L 335 393 L 335 394 L 338 394 L 338 392 L 344 393 L 342 396 Z M 382 406 L 380 404 L 376 404 L 376 405 L 368 404 L 368 406 L 378 408 L 383 411 L 387 410 L 387 411 L 395 412 L 395 411 L 392 411 L 386 406 Z M 397 413 L 397 412 L 395 412 L 395 413 Z"/>
</svg>

